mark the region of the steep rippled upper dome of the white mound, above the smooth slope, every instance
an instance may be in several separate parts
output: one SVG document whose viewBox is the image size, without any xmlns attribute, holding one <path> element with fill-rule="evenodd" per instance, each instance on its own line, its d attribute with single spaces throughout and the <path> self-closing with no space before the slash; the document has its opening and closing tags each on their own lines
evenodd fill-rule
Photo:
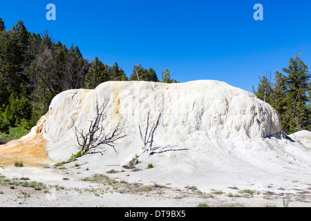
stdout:
<svg viewBox="0 0 311 221">
<path fill-rule="evenodd" d="M 151 122 L 161 113 L 155 145 L 177 144 L 196 136 L 206 142 L 246 141 L 283 134 L 279 115 L 269 104 L 224 82 L 110 81 L 95 90 L 68 90 L 53 99 L 42 118 L 41 130 L 53 160 L 77 153 L 73 126 L 86 131 L 95 115 L 96 102 L 101 105 L 105 101 L 109 101 L 105 110 L 106 133 L 119 126 L 132 143 L 142 142 L 138 125 L 146 126 L 149 112 Z"/>
</svg>

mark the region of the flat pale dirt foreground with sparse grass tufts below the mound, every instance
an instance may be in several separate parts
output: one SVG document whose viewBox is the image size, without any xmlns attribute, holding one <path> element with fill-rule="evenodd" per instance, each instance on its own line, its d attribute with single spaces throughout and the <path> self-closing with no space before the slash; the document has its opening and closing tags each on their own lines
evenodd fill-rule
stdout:
<svg viewBox="0 0 311 221">
<path fill-rule="evenodd" d="M 126 182 L 122 173 L 91 173 L 78 164 L 3 166 L 0 169 L 2 207 L 309 207 L 311 184 L 296 189 L 260 190 L 250 186 L 200 191 L 197 186 L 156 182 Z"/>
</svg>

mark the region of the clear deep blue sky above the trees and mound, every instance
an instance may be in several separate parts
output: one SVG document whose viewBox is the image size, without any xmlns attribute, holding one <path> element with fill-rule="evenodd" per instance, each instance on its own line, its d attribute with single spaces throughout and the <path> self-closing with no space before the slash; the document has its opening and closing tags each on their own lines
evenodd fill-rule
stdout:
<svg viewBox="0 0 311 221">
<path fill-rule="evenodd" d="M 56 21 L 46 5 L 56 6 Z M 263 5 L 263 21 L 253 9 Z M 178 81 L 216 79 L 252 91 L 258 73 L 274 73 L 301 52 L 311 66 L 311 1 L 1 1 L 7 29 L 46 28 L 55 39 L 77 45 L 84 57 L 115 62 L 129 77 L 135 64 L 158 77 L 169 68 Z"/>
</svg>

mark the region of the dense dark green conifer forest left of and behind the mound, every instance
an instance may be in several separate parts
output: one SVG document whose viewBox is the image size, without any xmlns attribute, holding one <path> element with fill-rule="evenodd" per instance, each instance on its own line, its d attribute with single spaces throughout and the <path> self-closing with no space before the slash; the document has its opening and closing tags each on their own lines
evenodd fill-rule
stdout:
<svg viewBox="0 0 311 221">
<path fill-rule="evenodd" d="M 177 82 L 168 69 L 161 78 L 165 83 Z M 88 61 L 78 46 L 68 48 L 48 30 L 32 33 L 21 20 L 6 30 L 0 18 L 0 132 L 16 127 L 29 130 L 64 90 L 128 80 L 160 81 L 153 68 L 137 64 L 128 78 L 117 63 L 109 66 L 98 57 Z"/>
</svg>

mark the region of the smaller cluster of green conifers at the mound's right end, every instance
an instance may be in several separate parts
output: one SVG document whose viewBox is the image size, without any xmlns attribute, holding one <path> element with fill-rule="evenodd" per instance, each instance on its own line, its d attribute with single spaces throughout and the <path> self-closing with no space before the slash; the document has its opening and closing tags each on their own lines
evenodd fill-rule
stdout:
<svg viewBox="0 0 311 221">
<path fill-rule="evenodd" d="M 311 131 L 311 75 L 301 60 L 300 54 L 291 58 L 283 73 L 276 71 L 274 81 L 271 76 L 261 76 L 255 95 L 269 103 L 281 117 L 285 133 Z"/>
</svg>

